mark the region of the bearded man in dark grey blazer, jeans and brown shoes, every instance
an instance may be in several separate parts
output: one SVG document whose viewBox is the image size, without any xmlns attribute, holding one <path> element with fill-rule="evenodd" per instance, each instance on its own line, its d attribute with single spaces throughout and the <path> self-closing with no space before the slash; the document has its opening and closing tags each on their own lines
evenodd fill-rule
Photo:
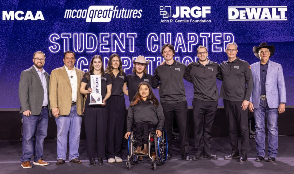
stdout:
<svg viewBox="0 0 294 174">
<path fill-rule="evenodd" d="M 32 168 L 31 156 L 34 155 L 34 165 L 46 166 L 43 160 L 44 138 L 47 136 L 49 109 L 49 74 L 43 69 L 45 54 L 37 51 L 33 55 L 34 65 L 22 71 L 19 80 L 20 113 L 23 120 L 22 156 L 23 168 Z M 35 142 L 33 143 L 33 137 Z"/>
</svg>

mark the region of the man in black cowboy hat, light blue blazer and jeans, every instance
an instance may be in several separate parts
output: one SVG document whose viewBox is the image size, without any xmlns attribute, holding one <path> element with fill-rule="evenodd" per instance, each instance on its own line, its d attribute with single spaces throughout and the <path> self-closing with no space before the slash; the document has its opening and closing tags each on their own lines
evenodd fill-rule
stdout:
<svg viewBox="0 0 294 174">
<path fill-rule="evenodd" d="M 253 76 L 253 91 L 250 97 L 249 110 L 255 119 L 255 141 L 257 158 L 262 161 L 265 156 L 265 127 L 266 116 L 268 128 L 268 160 L 275 162 L 278 148 L 278 113 L 285 112 L 286 88 L 283 68 L 269 58 L 274 54 L 274 45 L 262 42 L 253 47 L 254 55 L 260 61 L 250 65 Z"/>
</svg>

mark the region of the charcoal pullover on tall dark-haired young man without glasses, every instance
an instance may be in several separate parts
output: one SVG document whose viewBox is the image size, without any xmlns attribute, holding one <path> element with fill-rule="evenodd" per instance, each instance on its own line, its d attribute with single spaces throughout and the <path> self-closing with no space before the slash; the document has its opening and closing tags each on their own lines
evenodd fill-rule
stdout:
<svg viewBox="0 0 294 174">
<path fill-rule="evenodd" d="M 186 65 L 176 60 L 171 65 L 164 63 L 163 66 L 156 67 L 154 77 L 160 81 L 159 96 L 161 103 L 186 101 L 183 78 L 192 82 Z"/>
</svg>

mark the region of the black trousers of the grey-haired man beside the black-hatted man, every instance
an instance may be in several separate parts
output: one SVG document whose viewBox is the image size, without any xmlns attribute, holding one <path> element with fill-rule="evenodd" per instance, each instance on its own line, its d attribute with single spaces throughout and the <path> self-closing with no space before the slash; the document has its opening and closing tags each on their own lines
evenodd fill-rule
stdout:
<svg viewBox="0 0 294 174">
<path fill-rule="evenodd" d="M 242 110 L 243 101 L 228 101 L 223 99 L 226 117 L 229 122 L 229 135 L 231 147 L 234 152 L 239 152 L 238 148 L 238 128 L 241 135 L 241 153 L 247 154 L 249 149 L 249 128 L 248 109 Z"/>
</svg>

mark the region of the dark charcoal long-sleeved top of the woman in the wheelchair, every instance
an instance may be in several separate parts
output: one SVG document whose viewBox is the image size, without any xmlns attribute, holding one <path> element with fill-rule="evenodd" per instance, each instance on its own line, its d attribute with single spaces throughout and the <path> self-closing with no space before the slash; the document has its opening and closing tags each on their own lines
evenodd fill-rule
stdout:
<svg viewBox="0 0 294 174">
<path fill-rule="evenodd" d="M 158 130 L 161 130 L 164 125 L 164 115 L 162 106 L 153 106 L 152 101 L 140 101 L 135 106 L 130 106 L 127 117 L 127 132 L 131 131 L 133 121 L 136 123 L 149 122 L 152 125 L 157 125 Z"/>
</svg>

